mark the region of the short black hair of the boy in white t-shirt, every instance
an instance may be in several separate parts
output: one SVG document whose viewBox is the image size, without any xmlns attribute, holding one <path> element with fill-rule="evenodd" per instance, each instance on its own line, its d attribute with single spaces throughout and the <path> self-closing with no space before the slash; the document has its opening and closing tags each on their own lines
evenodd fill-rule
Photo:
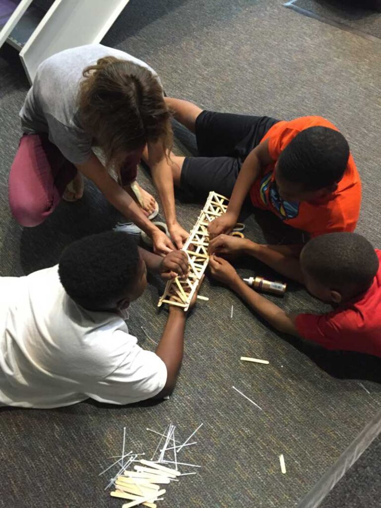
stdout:
<svg viewBox="0 0 381 508">
<path fill-rule="evenodd" d="M 138 246 L 128 234 L 107 231 L 69 245 L 58 274 L 72 300 L 89 310 L 105 310 L 133 287 L 139 260 Z"/>
</svg>

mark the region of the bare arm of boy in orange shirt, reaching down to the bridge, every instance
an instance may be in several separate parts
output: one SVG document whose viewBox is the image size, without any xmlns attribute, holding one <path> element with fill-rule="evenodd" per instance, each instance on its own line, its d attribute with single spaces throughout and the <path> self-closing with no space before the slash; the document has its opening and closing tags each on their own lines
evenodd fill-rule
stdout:
<svg viewBox="0 0 381 508">
<path fill-rule="evenodd" d="M 208 226 L 210 238 L 221 233 L 230 233 L 238 220 L 242 204 L 250 190 L 251 185 L 260 176 L 262 169 L 274 162 L 269 155 L 268 140 L 256 146 L 245 159 L 234 185 L 228 210 L 224 215 L 217 217 Z"/>
</svg>

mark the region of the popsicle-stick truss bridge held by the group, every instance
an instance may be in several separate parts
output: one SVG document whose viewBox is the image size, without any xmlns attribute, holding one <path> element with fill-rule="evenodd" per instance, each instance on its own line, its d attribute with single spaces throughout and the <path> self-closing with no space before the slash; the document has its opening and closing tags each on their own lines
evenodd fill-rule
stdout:
<svg viewBox="0 0 381 508">
<path fill-rule="evenodd" d="M 225 196 L 210 192 L 205 206 L 202 209 L 197 222 L 189 234 L 182 250 L 186 252 L 189 262 L 187 278 L 169 280 L 163 296 L 158 302 L 158 307 L 163 303 L 177 305 L 187 310 L 189 303 L 197 290 L 200 280 L 208 266 L 209 233 L 208 225 L 216 217 L 223 215 L 228 208 L 229 200 Z"/>
</svg>

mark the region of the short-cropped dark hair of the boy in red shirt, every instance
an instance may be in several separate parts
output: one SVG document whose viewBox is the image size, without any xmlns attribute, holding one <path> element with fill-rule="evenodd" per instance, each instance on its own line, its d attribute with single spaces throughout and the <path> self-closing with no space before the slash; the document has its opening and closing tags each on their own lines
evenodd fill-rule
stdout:
<svg viewBox="0 0 381 508">
<path fill-rule="evenodd" d="M 379 264 L 373 246 L 357 233 L 312 238 L 303 247 L 300 262 L 308 275 L 327 288 L 339 291 L 354 284 L 355 293 L 370 287 Z"/>
</svg>

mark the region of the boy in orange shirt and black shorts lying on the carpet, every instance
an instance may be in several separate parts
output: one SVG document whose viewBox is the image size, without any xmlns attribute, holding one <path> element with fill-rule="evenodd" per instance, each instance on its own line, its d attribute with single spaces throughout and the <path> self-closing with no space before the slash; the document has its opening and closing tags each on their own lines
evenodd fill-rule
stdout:
<svg viewBox="0 0 381 508">
<path fill-rule="evenodd" d="M 203 111 L 165 99 L 175 118 L 196 134 L 199 157 L 171 154 L 175 185 L 198 196 L 210 190 L 231 197 L 227 213 L 209 226 L 211 238 L 232 231 L 241 207 L 273 212 L 311 237 L 354 231 L 361 182 L 348 143 L 320 116 L 279 121 L 267 116 Z M 225 248 L 219 237 L 215 250 Z M 279 273 L 302 281 L 303 245 L 251 244 L 250 255 Z"/>
</svg>

